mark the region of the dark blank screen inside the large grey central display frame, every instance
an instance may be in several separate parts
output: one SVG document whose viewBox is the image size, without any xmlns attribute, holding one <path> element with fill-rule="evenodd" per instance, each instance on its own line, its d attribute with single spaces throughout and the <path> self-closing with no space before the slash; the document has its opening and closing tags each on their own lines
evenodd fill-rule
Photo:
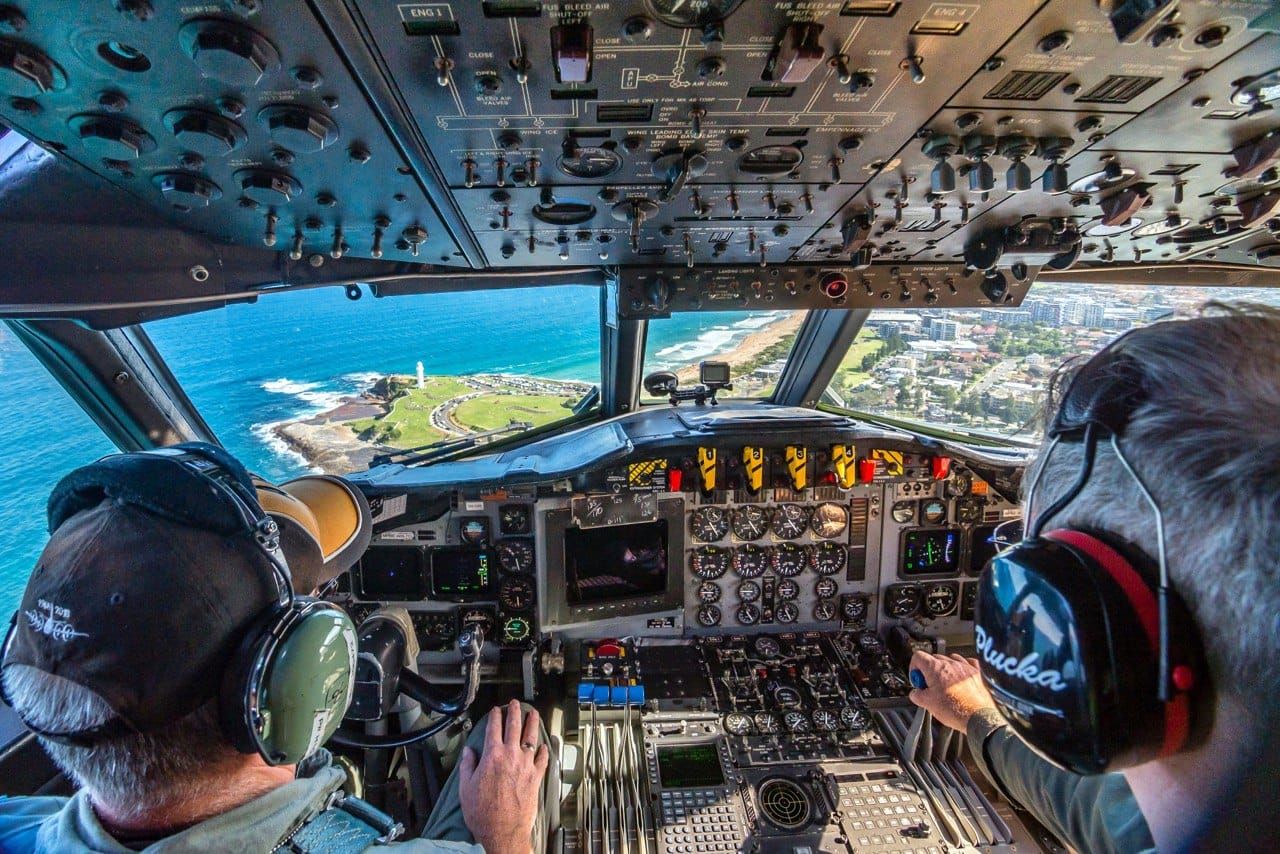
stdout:
<svg viewBox="0 0 1280 854">
<path fill-rule="evenodd" d="M 571 606 L 666 592 L 666 520 L 567 529 L 564 583 Z"/>
</svg>

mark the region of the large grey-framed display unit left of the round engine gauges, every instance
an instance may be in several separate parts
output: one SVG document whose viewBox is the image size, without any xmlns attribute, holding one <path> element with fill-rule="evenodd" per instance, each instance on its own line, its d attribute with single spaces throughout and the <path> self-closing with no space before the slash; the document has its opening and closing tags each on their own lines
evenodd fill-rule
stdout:
<svg viewBox="0 0 1280 854">
<path fill-rule="evenodd" d="M 675 611 L 684 600 L 684 501 L 654 502 L 648 520 L 590 526 L 549 510 L 545 627 Z"/>
</svg>

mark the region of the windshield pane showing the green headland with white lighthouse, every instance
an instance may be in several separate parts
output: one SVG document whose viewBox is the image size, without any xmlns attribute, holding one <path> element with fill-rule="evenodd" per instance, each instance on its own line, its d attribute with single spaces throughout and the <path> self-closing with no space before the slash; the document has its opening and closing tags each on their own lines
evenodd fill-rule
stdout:
<svg viewBox="0 0 1280 854">
<path fill-rule="evenodd" d="M 591 411 L 600 292 L 358 301 L 342 289 L 146 324 L 218 438 L 268 478 L 483 444 Z"/>
</svg>

